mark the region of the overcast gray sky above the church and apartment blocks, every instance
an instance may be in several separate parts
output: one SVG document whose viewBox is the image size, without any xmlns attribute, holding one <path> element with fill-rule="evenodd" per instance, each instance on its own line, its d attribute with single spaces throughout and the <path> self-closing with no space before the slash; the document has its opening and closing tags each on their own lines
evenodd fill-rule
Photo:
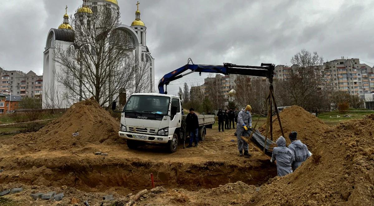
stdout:
<svg viewBox="0 0 374 206">
<path fill-rule="evenodd" d="M 122 23 L 135 19 L 136 1 L 118 0 Z M 43 73 L 50 28 L 62 23 L 81 0 L 0 0 L 0 67 Z M 140 0 L 147 45 L 155 58 L 156 82 L 192 58 L 195 64 L 224 62 L 258 66 L 290 64 L 296 52 L 317 51 L 325 61 L 341 56 L 374 65 L 373 0 Z M 197 85 L 192 74 L 173 82 Z"/>
</svg>

